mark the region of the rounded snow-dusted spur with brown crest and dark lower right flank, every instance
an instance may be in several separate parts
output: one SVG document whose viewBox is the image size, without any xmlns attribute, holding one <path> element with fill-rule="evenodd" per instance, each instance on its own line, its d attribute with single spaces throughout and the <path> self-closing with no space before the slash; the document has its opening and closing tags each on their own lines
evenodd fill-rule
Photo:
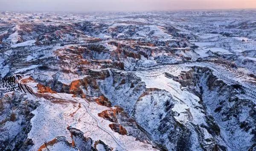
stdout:
<svg viewBox="0 0 256 151">
<path fill-rule="evenodd" d="M 195 127 L 175 119 L 177 113 L 172 111 L 175 102 L 165 90 L 146 89 L 137 100 L 133 117 L 155 142 L 165 144 L 163 149 L 190 150 L 192 137 L 196 135 Z M 194 140 L 194 143 L 198 143 L 198 140 Z"/>
</svg>

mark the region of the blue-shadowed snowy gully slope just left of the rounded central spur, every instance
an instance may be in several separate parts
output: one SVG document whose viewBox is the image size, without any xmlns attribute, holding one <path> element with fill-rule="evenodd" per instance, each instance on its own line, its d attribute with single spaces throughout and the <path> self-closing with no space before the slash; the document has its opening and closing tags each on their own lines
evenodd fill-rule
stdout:
<svg viewBox="0 0 256 151">
<path fill-rule="evenodd" d="M 134 74 L 110 71 L 109 77 L 98 80 L 99 89 L 113 106 L 121 106 L 130 115 L 131 107 L 135 105 L 145 90 L 145 83 L 141 82 L 140 78 Z M 117 96 L 117 94 L 123 95 Z"/>
</svg>

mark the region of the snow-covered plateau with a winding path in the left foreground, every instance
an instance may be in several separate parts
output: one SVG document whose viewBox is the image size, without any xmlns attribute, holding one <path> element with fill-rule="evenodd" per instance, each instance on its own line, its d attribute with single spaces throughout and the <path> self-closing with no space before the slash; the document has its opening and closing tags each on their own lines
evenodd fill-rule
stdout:
<svg viewBox="0 0 256 151">
<path fill-rule="evenodd" d="M 35 84 L 29 83 L 29 85 L 35 87 Z M 89 103 L 81 98 L 73 98 L 72 95 L 66 93 L 47 95 L 49 98 L 38 100 L 41 105 L 32 112 L 35 116 L 31 119 L 32 129 L 28 138 L 31 138 L 35 145 L 30 149 L 31 151 L 57 136 L 64 136 L 71 142 L 67 126 L 79 129 L 86 134 L 85 137 L 90 137 L 94 141 L 102 140 L 120 151 L 123 149 L 116 141 L 123 144 L 125 146 L 123 148 L 127 150 L 141 150 L 142 148 L 148 151 L 153 150 L 149 144 L 134 141 L 134 137 L 113 132 L 108 126 L 111 122 L 98 116 L 98 113 L 110 109 L 109 107 L 100 106 L 95 102 Z M 81 103 L 81 108 L 78 107 L 79 103 Z M 117 140 L 113 140 L 110 134 Z"/>
</svg>

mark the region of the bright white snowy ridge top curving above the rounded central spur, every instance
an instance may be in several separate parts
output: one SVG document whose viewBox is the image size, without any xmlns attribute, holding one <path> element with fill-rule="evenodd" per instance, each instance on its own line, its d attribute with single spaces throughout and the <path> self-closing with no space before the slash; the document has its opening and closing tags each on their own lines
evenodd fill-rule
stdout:
<svg viewBox="0 0 256 151">
<path fill-rule="evenodd" d="M 203 122 L 201 110 L 195 109 L 195 106 L 201 106 L 198 103 L 200 100 L 194 94 L 180 89 L 180 84 L 167 78 L 163 73 L 169 73 L 173 76 L 180 75 L 181 71 L 188 71 L 190 68 L 177 66 L 177 65 L 164 65 L 160 67 L 148 68 L 145 71 L 138 71 L 135 74 L 139 76 L 143 82 L 146 84 L 146 88 L 158 88 L 164 89 L 170 92 L 173 99 L 177 101 L 173 111 L 180 113 L 179 116 L 175 116 L 176 120 L 179 122 L 187 123 L 190 118 L 184 113 L 186 109 L 189 109 L 193 116 L 193 122 L 195 124 L 200 124 Z"/>
</svg>

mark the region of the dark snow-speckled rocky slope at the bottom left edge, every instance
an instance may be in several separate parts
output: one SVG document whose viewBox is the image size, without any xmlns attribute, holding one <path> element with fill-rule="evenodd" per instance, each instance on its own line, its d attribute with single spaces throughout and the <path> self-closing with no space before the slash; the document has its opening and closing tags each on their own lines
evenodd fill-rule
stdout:
<svg viewBox="0 0 256 151">
<path fill-rule="evenodd" d="M 33 98 L 27 99 L 17 92 L 0 99 L 0 150 L 26 150 L 24 148 L 33 145 L 31 140 L 27 140 L 27 134 L 34 116 L 31 112 L 37 106 Z"/>
</svg>

